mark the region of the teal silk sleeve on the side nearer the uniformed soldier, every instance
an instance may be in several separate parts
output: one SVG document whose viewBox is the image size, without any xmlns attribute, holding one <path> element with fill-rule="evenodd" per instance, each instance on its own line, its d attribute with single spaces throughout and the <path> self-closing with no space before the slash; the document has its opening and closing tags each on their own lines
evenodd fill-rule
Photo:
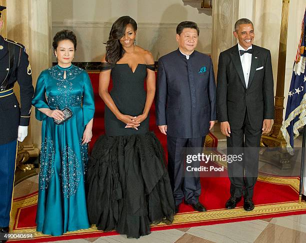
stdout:
<svg viewBox="0 0 306 243">
<path fill-rule="evenodd" d="M 37 120 L 42 121 L 47 117 L 45 114 L 38 110 L 39 108 L 50 109 L 45 99 L 45 75 L 43 72 L 40 73 L 37 79 L 35 93 L 32 99 L 32 105 L 35 106 L 35 117 Z"/>
</svg>

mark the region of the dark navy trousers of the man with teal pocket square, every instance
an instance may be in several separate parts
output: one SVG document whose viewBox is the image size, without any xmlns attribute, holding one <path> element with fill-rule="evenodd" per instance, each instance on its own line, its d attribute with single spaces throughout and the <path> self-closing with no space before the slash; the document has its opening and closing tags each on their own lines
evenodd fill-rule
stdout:
<svg viewBox="0 0 306 243">
<path fill-rule="evenodd" d="M 183 198 L 187 204 L 196 204 L 201 194 L 199 172 L 193 172 L 192 177 L 184 177 L 184 148 L 202 148 L 205 137 L 176 138 L 167 135 L 168 173 L 175 205 L 179 205 Z M 200 151 L 201 152 L 201 151 Z"/>
</svg>

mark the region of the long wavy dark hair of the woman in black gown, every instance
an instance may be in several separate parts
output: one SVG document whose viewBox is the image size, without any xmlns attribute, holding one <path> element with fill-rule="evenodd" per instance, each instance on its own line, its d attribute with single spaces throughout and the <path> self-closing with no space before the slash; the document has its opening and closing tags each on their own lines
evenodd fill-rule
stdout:
<svg viewBox="0 0 306 243">
<path fill-rule="evenodd" d="M 131 24 L 134 31 L 137 30 L 137 23 L 130 16 L 119 17 L 113 22 L 106 42 L 106 62 L 116 63 L 123 56 L 124 49 L 120 43 L 120 38 L 124 35 L 127 24 Z"/>
</svg>

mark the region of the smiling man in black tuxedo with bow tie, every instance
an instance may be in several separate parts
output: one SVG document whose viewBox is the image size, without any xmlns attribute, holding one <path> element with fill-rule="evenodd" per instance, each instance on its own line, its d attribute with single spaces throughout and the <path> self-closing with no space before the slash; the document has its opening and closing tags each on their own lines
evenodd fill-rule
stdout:
<svg viewBox="0 0 306 243">
<path fill-rule="evenodd" d="M 243 195 L 243 208 L 251 211 L 260 137 L 270 131 L 274 114 L 272 64 L 270 51 L 252 44 L 249 19 L 237 20 L 234 28 L 238 44 L 219 55 L 217 113 L 227 153 L 244 155 L 242 162 L 227 163 L 230 198 L 225 208 L 233 209 Z"/>
</svg>

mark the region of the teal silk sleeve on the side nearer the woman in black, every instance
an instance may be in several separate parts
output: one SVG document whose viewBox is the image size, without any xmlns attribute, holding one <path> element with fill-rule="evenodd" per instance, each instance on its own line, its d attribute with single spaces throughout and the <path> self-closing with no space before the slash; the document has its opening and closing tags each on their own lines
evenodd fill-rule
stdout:
<svg viewBox="0 0 306 243">
<path fill-rule="evenodd" d="M 94 98 L 93 89 L 89 76 L 84 72 L 84 89 L 83 89 L 83 126 L 93 118 L 94 114 Z"/>
</svg>

